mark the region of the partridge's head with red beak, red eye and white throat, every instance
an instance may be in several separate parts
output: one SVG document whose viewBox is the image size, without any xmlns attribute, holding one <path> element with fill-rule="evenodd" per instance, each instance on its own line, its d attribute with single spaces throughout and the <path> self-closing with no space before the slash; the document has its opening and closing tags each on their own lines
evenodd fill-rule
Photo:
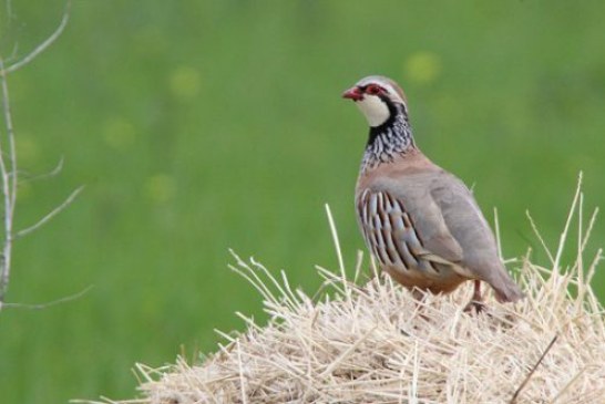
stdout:
<svg viewBox="0 0 605 404">
<path fill-rule="evenodd" d="M 355 101 L 372 127 L 383 125 L 397 114 L 407 114 L 403 91 L 388 77 L 363 77 L 343 92 L 342 97 Z"/>
</svg>

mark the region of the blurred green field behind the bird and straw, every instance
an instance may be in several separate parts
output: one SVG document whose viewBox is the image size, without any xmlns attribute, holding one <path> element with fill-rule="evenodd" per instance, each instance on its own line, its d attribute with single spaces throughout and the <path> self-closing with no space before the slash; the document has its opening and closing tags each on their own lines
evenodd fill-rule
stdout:
<svg viewBox="0 0 605 404">
<path fill-rule="evenodd" d="M 2 0 L 0 52 L 24 55 L 63 1 Z M 12 12 L 12 17 L 9 15 Z M 85 1 L 60 40 L 9 77 L 23 183 L 18 227 L 83 195 L 16 245 L 0 313 L 0 402 L 131 397 L 135 362 L 213 351 L 214 329 L 263 318 L 226 266 L 254 255 L 312 292 L 361 248 L 352 189 L 367 128 L 340 93 L 402 84 L 420 147 L 468 184 L 505 256 L 554 247 L 577 173 L 605 187 L 605 3 L 598 1 Z M 64 157 L 63 172 L 28 180 Z M 604 220 L 592 249 L 605 240 Z M 595 286 L 605 298 L 605 276 Z"/>
</svg>

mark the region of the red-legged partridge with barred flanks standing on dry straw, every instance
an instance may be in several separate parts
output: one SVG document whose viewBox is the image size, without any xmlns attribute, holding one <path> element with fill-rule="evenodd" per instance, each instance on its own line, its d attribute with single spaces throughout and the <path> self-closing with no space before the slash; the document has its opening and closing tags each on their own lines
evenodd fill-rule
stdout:
<svg viewBox="0 0 605 404">
<path fill-rule="evenodd" d="M 363 239 L 380 268 L 421 299 L 473 281 L 465 311 L 484 308 L 481 282 L 499 302 L 523 291 L 506 271 L 471 190 L 417 146 L 408 101 L 391 79 L 371 75 L 342 93 L 370 126 L 355 191 Z"/>
</svg>

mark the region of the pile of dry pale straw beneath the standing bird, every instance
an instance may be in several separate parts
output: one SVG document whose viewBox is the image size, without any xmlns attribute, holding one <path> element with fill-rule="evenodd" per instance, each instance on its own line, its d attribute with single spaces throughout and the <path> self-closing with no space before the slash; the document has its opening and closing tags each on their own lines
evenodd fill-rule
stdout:
<svg viewBox="0 0 605 404">
<path fill-rule="evenodd" d="M 462 311 L 470 288 L 418 302 L 388 277 L 358 286 L 361 266 L 349 280 L 339 256 L 337 273 L 318 268 L 325 288 L 314 298 L 284 272 L 234 255 L 268 323 L 238 313 L 247 330 L 219 332 L 226 344 L 216 353 L 194 365 L 139 364 L 142 397 L 105 402 L 605 403 L 603 307 L 589 287 L 602 251 L 584 258 L 596 210 L 584 228 L 582 205 L 578 184 L 556 250 L 536 230 L 547 267 L 530 252 L 515 261 L 527 298 L 512 305 L 490 297 L 474 315 Z M 575 259 L 563 268 L 565 248 Z"/>
</svg>

